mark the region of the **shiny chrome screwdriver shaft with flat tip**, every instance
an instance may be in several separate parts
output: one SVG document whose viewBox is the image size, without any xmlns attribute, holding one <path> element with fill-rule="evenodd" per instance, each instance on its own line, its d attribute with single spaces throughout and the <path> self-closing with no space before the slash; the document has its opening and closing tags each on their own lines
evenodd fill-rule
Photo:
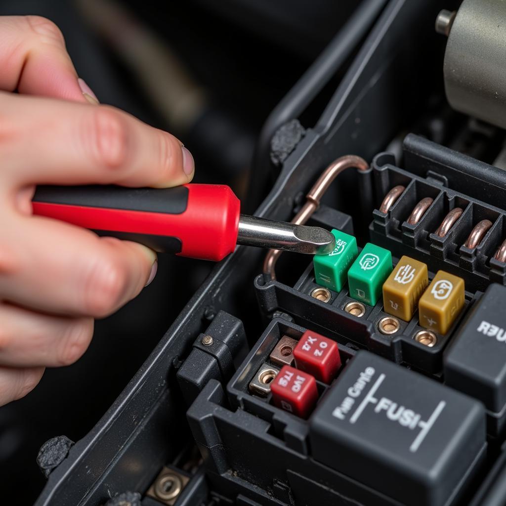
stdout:
<svg viewBox="0 0 506 506">
<path fill-rule="evenodd" d="M 335 238 L 320 227 L 306 227 L 241 215 L 237 243 L 310 255 L 325 255 L 334 249 Z"/>
</svg>

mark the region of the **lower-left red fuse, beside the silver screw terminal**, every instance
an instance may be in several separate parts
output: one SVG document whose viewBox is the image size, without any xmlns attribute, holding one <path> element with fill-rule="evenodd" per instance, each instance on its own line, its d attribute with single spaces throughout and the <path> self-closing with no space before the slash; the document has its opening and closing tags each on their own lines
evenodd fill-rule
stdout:
<svg viewBox="0 0 506 506">
<path fill-rule="evenodd" d="M 306 372 L 284 365 L 271 383 L 274 404 L 306 418 L 318 399 L 316 379 Z"/>
</svg>

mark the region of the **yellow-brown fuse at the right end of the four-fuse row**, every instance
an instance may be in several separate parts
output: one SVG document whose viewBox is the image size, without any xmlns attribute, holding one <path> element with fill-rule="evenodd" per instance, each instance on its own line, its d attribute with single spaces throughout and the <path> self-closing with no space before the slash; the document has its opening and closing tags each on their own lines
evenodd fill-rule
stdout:
<svg viewBox="0 0 506 506">
<path fill-rule="evenodd" d="M 464 280 L 438 271 L 418 303 L 420 325 L 445 334 L 464 305 Z"/>
</svg>

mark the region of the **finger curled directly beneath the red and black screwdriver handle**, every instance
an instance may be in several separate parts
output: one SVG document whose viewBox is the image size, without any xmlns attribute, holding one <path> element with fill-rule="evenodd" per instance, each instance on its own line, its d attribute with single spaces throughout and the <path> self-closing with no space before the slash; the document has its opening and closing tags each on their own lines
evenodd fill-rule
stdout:
<svg viewBox="0 0 506 506">
<path fill-rule="evenodd" d="M 18 217 L 13 227 L 23 234 L 0 258 L 0 300 L 19 306 L 102 318 L 136 297 L 154 268 L 141 244 L 47 218 Z"/>
</svg>

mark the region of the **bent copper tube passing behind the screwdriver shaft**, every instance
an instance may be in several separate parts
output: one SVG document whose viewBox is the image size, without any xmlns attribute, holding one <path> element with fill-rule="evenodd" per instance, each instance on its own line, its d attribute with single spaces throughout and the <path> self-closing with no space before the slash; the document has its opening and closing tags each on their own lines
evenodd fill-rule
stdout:
<svg viewBox="0 0 506 506">
<path fill-rule="evenodd" d="M 360 156 L 345 155 L 334 160 L 321 174 L 316 183 L 313 185 L 309 193 L 306 195 L 306 203 L 291 223 L 296 225 L 304 225 L 311 215 L 318 209 L 320 200 L 327 191 L 332 181 L 338 177 L 345 169 L 355 167 L 359 171 L 366 171 L 369 168 L 367 162 Z M 280 249 L 269 249 L 264 260 L 264 274 L 271 279 L 276 279 L 276 262 L 282 251 Z"/>
</svg>

